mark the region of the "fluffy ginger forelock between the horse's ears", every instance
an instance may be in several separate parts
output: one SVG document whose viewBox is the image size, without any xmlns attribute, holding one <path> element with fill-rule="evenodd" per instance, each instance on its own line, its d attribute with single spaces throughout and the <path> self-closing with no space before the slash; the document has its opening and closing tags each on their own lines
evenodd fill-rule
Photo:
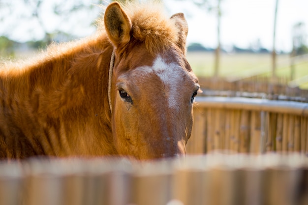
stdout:
<svg viewBox="0 0 308 205">
<path fill-rule="evenodd" d="M 142 42 L 151 53 L 157 53 L 178 41 L 179 29 L 173 20 L 164 12 L 162 3 L 126 2 L 121 4 L 132 23 L 131 36 Z M 103 16 L 97 20 L 99 30 L 104 29 Z"/>
</svg>

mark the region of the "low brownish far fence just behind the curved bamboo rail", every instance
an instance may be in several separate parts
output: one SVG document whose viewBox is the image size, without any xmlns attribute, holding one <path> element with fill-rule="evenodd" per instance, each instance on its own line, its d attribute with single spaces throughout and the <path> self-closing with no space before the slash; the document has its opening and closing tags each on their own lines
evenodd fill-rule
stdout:
<svg viewBox="0 0 308 205">
<path fill-rule="evenodd" d="M 228 96 L 266 98 L 308 102 L 308 90 L 289 87 L 289 79 L 278 78 L 272 82 L 269 77 L 255 76 L 246 79 L 199 78 L 205 96 Z"/>
</svg>

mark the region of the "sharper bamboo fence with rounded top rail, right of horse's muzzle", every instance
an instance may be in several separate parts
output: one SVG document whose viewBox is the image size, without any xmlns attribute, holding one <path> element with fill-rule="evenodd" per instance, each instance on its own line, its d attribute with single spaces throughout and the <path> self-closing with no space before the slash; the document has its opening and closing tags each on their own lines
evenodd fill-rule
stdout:
<svg viewBox="0 0 308 205">
<path fill-rule="evenodd" d="M 308 154 L 308 103 L 198 97 L 187 153 L 213 150 Z"/>
</svg>

